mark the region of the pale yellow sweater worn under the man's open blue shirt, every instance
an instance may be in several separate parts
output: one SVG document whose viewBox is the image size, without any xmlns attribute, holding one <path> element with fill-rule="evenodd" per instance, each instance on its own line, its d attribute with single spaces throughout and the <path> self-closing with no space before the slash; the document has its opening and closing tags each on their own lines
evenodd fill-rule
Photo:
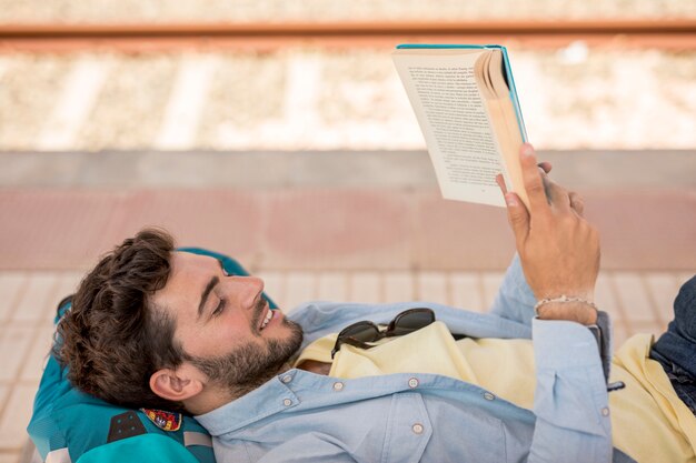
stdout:
<svg viewBox="0 0 696 463">
<path fill-rule="evenodd" d="M 306 360 L 331 363 L 336 334 L 308 345 Z M 696 462 L 696 417 L 675 393 L 662 366 L 648 359 L 650 335 L 629 339 L 614 358 L 612 381 L 626 389 L 612 392 L 614 446 L 637 462 Z M 435 373 L 477 384 L 531 410 L 536 379 L 529 340 L 455 341 L 441 322 L 406 336 L 382 340 L 362 350 L 341 345 L 330 376 L 361 378 L 390 373 Z"/>
</svg>

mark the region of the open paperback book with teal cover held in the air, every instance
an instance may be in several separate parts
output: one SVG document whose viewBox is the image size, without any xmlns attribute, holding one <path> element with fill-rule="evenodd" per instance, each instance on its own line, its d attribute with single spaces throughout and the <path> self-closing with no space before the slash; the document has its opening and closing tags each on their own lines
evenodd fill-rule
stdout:
<svg viewBox="0 0 696 463">
<path fill-rule="evenodd" d="M 519 148 L 527 140 L 507 50 L 499 46 L 398 46 L 392 54 L 443 197 L 505 207 L 496 184 L 528 205 Z"/>
</svg>

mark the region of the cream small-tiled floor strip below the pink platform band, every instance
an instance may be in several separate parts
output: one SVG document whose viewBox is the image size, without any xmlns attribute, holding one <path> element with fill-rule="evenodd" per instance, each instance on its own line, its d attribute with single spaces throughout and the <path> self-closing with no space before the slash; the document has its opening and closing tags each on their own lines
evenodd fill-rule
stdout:
<svg viewBox="0 0 696 463">
<path fill-rule="evenodd" d="M 307 300 L 429 300 L 484 311 L 499 271 L 265 271 L 268 293 L 286 311 Z M 0 272 L 0 463 L 17 463 L 52 333 L 56 304 L 81 276 L 74 271 Z M 612 313 L 616 343 L 636 332 L 660 333 L 690 272 L 605 271 L 597 303 Z"/>
</svg>

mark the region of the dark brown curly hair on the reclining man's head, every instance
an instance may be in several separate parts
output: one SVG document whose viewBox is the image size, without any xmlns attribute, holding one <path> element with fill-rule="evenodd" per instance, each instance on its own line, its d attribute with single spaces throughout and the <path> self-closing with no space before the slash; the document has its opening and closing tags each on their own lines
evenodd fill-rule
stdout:
<svg viewBox="0 0 696 463">
<path fill-rule="evenodd" d="M 173 319 L 150 302 L 167 284 L 173 246 L 166 231 L 142 230 L 81 281 L 58 324 L 53 350 L 74 386 L 129 407 L 182 409 L 149 386 L 152 373 L 185 358 L 173 339 Z"/>
</svg>

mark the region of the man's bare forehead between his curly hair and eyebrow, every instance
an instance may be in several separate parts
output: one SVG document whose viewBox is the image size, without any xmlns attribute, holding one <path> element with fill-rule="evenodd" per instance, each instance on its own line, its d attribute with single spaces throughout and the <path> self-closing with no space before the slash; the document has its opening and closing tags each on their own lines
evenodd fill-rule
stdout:
<svg viewBox="0 0 696 463">
<path fill-rule="evenodd" d="M 177 318 L 187 318 L 197 311 L 203 289 L 210 278 L 218 274 L 220 263 L 208 255 L 189 252 L 172 252 L 171 271 L 167 284 L 157 291 L 152 302 Z"/>
</svg>

